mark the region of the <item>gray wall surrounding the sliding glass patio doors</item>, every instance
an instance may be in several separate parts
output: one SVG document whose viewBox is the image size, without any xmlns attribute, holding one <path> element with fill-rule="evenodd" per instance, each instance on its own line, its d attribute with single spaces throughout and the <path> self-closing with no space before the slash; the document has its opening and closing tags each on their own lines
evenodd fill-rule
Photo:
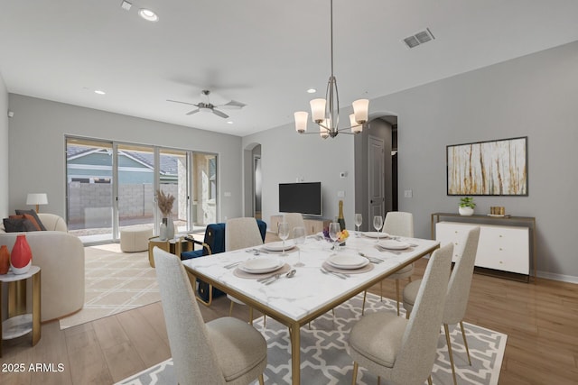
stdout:
<svg viewBox="0 0 578 385">
<path fill-rule="evenodd" d="M 217 153 L 220 215 L 241 215 L 241 138 L 238 136 L 28 96 L 10 94 L 9 99 L 10 108 L 14 111 L 9 130 L 10 212 L 26 207 L 26 194 L 46 192 L 48 205 L 42 206 L 42 211 L 65 215 L 64 136 L 70 134 Z M 224 197 L 225 192 L 229 192 L 230 197 Z"/>
</svg>

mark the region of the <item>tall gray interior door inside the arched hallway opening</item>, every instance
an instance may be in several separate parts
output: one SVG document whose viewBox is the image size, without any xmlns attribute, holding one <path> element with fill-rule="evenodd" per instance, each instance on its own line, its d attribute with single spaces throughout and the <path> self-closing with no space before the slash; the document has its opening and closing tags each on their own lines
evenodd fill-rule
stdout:
<svg viewBox="0 0 578 385">
<path fill-rule="evenodd" d="M 368 219 L 364 220 L 368 224 L 368 229 L 373 228 L 373 217 L 384 215 L 385 205 L 385 152 L 384 141 L 375 136 L 368 136 L 368 193 L 369 211 Z"/>
</svg>

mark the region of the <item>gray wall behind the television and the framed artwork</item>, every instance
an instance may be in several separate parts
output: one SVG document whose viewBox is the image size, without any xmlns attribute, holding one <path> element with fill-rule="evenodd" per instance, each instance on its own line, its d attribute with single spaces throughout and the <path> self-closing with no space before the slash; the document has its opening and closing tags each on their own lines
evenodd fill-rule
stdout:
<svg viewBox="0 0 578 385">
<path fill-rule="evenodd" d="M 372 100 L 372 117 L 398 118 L 399 209 L 414 213 L 416 236 L 430 236 L 431 213 L 457 212 L 459 197 L 446 195 L 446 145 L 527 136 L 528 197 L 476 197 L 476 212 L 506 206 L 508 214 L 535 216 L 538 274 L 578 282 L 578 208 L 571 202 L 578 191 L 577 84 L 573 42 Z M 346 189 L 346 221 L 353 223 L 350 136 L 322 141 L 287 124 L 243 138 L 243 146 L 252 142 L 263 145 L 264 215 L 277 211 L 277 183 L 303 175 L 322 180 L 328 217 L 336 214 L 336 190 Z M 340 170 L 350 171 L 347 179 Z M 408 189 L 413 197 L 403 196 Z"/>
</svg>

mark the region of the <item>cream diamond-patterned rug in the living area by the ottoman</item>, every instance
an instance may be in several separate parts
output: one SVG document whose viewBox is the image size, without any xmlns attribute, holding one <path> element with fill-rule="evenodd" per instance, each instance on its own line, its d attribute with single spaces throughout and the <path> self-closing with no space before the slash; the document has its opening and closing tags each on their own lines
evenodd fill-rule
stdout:
<svg viewBox="0 0 578 385">
<path fill-rule="evenodd" d="M 61 330 L 161 300 L 148 252 L 121 252 L 118 243 L 85 247 L 84 307 L 61 319 Z"/>
</svg>

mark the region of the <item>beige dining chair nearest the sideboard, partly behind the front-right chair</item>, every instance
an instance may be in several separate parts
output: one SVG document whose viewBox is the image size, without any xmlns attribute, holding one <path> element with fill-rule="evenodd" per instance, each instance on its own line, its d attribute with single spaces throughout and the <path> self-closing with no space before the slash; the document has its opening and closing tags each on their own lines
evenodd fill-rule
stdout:
<svg viewBox="0 0 578 385">
<path fill-rule="evenodd" d="M 450 362 L 452 363 L 453 383 L 457 384 L 455 378 L 455 367 L 453 365 L 452 343 L 450 341 L 450 332 L 448 325 L 460 324 L 461 337 L 463 344 L 468 353 L 468 362 L 471 365 L 470 349 L 468 349 L 468 342 L 466 341 L 466 334 L 463 330 L 463 316 L 466 314 L 466 307 L 468 307 L 468 299 L 470 298 L 471 277 L 473 275 L 474 262 L 476 261 L 476 251 L 478 250 L 478 240 L 480 239 L 480 227 L 472 228 L 465 236 L 463 249 L 461 255 L 458 255 L 458 260 L 455 262 L 448 284 L 448 291 L 445 299 L 445 308 L 443 309 L 443 330 L 445 332 L 445 341 L 448 344 L 448 353 L 450 355 Z M 458 250 L 458 252 L 460 252 Z M 404 308 L 406 309 L 406 316 L 412 312 L 415 307 L 417 293 L 420 289 L 421 280 L 415 280 L 408 284 L 404 289 Z"/>
</svg>

